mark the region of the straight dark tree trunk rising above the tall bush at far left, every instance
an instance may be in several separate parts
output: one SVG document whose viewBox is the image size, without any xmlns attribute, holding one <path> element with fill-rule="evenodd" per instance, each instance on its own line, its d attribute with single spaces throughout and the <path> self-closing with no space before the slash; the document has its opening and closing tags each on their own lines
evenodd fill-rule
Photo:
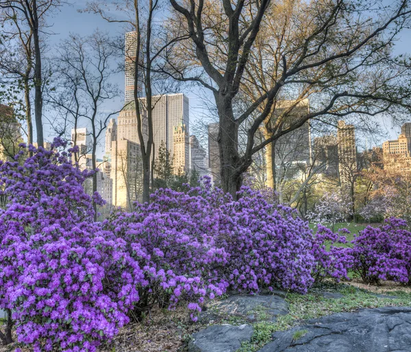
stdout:
<svg viewBox="0 0 411 352">
<path fill-rule="evenodd" d="M 36 0 L 33 0 L 33 38 L 34 38 L 34 55 L 36 64 L 34 66 L 34 116 L 36 119 L 37 144 L 38 147 L 44 147 L 44 138 L 42 130 L 42 76 L 41 76 L 41 51 L 40 38 L 38 36 L 38 14 Z"/>
</svg>

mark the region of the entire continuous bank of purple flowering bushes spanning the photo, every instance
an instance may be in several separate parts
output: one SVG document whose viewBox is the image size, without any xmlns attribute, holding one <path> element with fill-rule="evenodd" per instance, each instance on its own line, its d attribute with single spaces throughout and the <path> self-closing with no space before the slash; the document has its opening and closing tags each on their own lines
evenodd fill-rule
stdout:
<svg viewBox="0 0 411 352">
<path fill-rule="evenodd" d="M 34 351 L 96 351 L 154 305 L 185 302 L 196 320 L 206 298 L 227 290 L 305 293 L 349 271 L 410 282 L 405 221 L 367 227 L 340 247 L 347 230 L 319 225 L 313 235 L 271 192 L 242 187 L 234 200 L 209 178 L 94 222 L 92 203 L 103 201 L 84 192 L 92 171 L 79 171 L 64 148 L 60 139 L 51 151 L 21 145 L 0 162 L 0 308 Z"/>
</svg>

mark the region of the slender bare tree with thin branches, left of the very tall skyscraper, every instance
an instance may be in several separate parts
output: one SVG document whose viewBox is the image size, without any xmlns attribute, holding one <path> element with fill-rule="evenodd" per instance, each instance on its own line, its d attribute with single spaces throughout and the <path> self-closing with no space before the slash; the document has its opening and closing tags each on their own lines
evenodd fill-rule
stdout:
<svg viewBox="0 0 411 352">
<path fill-rule="evenodd" d="M 90 129 L 92 168 L 97 169 L 97 146 L 110 118 L 119 111 L 107 111 L 104 103 L 118 97 L 119 90 L 112 84 L 112 68 L 117 51 L 110 37 L 101 32 L 80 37 L 72 34 L 58 48 L 55 62 L 55 94 L 52 102 L 62 112 L 64 127 L 67 119 L 75 127 L 80 119 Z M 61 83 L 61 86 L 59 85 Z M 72 120 L 71 120 L 72 119 Z M 75 133 L 73 142 L 76 142 Z M 97 173 L 93 175 L 92 192 L 97 192 Z M 95 207 L 97 205 L 94 204 Z M 96 215 L 97 216 L 97 212 Z"/>
</svg>

